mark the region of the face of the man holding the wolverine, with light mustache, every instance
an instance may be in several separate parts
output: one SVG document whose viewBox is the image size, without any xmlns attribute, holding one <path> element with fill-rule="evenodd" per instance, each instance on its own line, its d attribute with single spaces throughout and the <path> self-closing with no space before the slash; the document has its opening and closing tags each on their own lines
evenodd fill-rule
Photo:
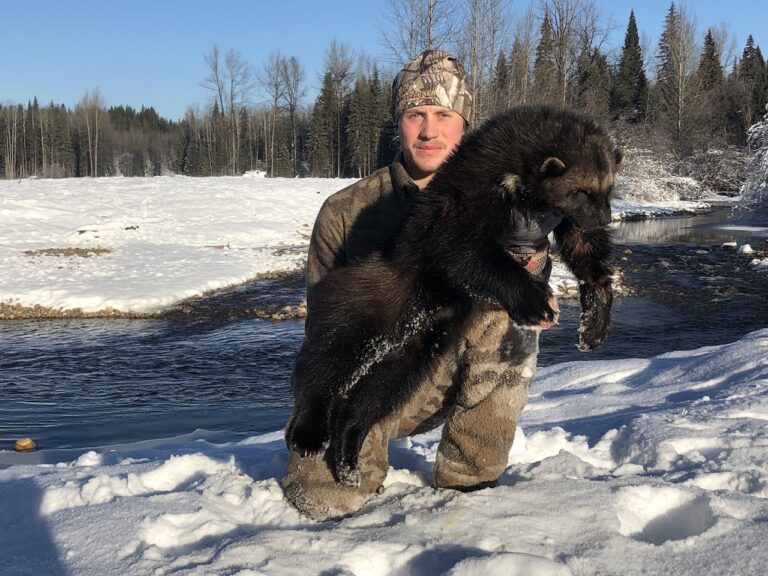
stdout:
<svg viewBox="0 0 768 576">
<path fill-rule="evenodd" d="M 405 168 L 423 187 L 461 141 L 464 118 L 442 106 L 415 106 L 400 116 L 398 131 Z"/>
</svg>

